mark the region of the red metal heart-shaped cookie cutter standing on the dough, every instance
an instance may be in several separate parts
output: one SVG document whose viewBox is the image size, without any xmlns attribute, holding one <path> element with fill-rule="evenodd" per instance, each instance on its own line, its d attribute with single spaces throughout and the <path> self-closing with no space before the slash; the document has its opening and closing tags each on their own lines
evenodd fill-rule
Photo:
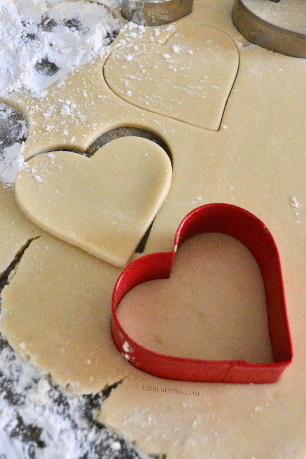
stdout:
<svg viewBox="0 0 306 459">
<path fill-rule="evenodd" d="M 176 250 L 187 239 L 202 233 L 232 236 L 242 242 L 256 259 L 265 287 L 273 363 L 209 361 L 160 354 L 135 342 L 122 328 L 116 313 L 122 297 L 139 284 L 169 278 Z M 191 211 L 177 230 L 173 251 L 139 258 L 118 278 L 113 293 L 112 336 L 119 351 L 132 365 L 154 376 L 202 382 L 276 382 L 292 362 L 293 351 L 281 263 L 268 228 L 250 212 L 230 204 L 212 203 Z"/>
</svg>

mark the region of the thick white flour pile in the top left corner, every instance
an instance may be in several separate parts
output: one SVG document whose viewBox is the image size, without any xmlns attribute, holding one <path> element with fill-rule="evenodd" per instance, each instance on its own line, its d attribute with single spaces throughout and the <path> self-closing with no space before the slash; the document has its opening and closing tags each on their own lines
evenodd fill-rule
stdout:
<svg viewBox="0 0 306 459">
<path fill-rule="evenodd" d="M 39 94 L 103 53 L 118 31 L 118 19 L 101 4 L 1 0 L 0 95 L 20 88 Z"/>
</svg>

